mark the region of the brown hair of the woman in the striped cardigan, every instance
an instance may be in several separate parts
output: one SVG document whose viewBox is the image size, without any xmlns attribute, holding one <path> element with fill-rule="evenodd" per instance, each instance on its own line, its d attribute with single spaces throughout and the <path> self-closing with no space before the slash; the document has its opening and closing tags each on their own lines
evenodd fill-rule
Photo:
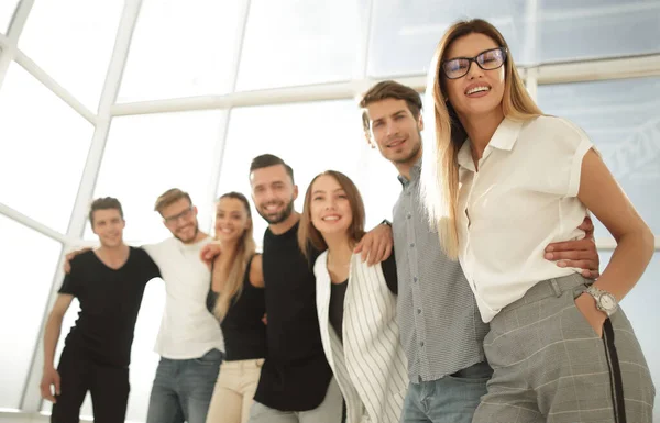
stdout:
<svg viewBox="0 0 660 423">
<path fill-rule="evenodd" d="M 355 183 L 353 183 L 351 178 L 337 170 L 326 170 L 322 174 L 317 175 L 311 182 L 309 182 L 309 187 L 305 193 L 302 214 L 300 215 L 298 245 L 308 259 L 311 257 L 312 248 L 320 252 L 328 249 L 328 244 L 326 244 L 323 236 L 319 230 L 316 229 L 314 223 L 311 223 L 311 190 L 314 188 L 314 182 L 321 176 L 333 177 L 341 189 L 346 193 L 349 204 L 351 205 L 351 212 L 353 213 L 353 220 L 349 227 L 350 241 L 356 243 L 364 236 L 364 202 L 362 201 L 362 196 L 360 194 L 358 187 L 355 187 Z"/>
</svg>

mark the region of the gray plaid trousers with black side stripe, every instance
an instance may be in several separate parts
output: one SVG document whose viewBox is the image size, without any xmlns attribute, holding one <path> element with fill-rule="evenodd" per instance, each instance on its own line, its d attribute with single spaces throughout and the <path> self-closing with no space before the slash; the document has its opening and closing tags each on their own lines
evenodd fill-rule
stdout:
<svg viewBox="0 0 660 423">
<path fill-rule="evenodd" d="M 588 283 L 539 282 L 493 319 L 494 374 L 473 423 L 651 423 L 656 389 L 630 322 L 619 308 L 598 337 L 574 301 Z"/>
</svg>

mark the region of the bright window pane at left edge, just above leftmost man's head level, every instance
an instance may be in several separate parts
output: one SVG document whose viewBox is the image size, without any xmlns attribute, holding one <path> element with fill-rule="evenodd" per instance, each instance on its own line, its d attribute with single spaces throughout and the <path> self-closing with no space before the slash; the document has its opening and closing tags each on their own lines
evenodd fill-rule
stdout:
<svg viewBox="0 0 660 423">
<path fill-rule="evenodd" d="M 0 202 L 66 232 L 94 127 L 15 64 L 0 115 Z"/>
</svg>

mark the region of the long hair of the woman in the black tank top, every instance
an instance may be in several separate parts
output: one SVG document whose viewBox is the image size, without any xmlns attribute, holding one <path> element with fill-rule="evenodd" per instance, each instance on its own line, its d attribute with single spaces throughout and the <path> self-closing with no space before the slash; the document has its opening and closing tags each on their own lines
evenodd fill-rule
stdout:
<svg viewBox="0 0 660 423">
<path fill-rule="evenodd" d="M 250 203 L 248 202 L 248 199 L 240 192 L 228 192 L 221 196 L 218 199 L 218 202 L 226 198 L 235 199 L 243 203 L 245 213 L 248 213 L 249 224 L 243 232 L 243 235 L 241 235 L 241 240 L 239 240 L 235 258 L 231 266 L 231 270 L 229 271 L 229 277 L 222 285 L 222 291 L 219 292 L 218 299 L 216 300 L 216 305 L 213 307 L 213 314 L 220 321 L 222 321 L 227 315 L 227 311 L 229 310 L 231 302 L 235 301 L 241 296 L 241 292 L 243 292 L 243 280 L 245 278 L 245 272 L 250 271 L 248 265 L 256 252 L 256 244 L 252 237 L 252 212 L 250 211 Z"/>
</svg>

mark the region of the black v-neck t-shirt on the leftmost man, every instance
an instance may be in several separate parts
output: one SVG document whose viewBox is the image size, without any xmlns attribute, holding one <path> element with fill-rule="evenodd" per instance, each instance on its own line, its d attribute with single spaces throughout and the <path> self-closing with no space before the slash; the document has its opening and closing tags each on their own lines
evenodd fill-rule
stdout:
<svg viewBox="0 0 660 423">
<path fill-rule="evenodd" d="M 78 320 L 65 345 L 88 354 L 99 365 L 127 367 L 144 287 L 161 271 L 142 248 L 130 248 L 119 269 L 106 266 L 94 252 L 77 255 L 70 263 L 59 293 L 80 302 Z"/>
</svg>

